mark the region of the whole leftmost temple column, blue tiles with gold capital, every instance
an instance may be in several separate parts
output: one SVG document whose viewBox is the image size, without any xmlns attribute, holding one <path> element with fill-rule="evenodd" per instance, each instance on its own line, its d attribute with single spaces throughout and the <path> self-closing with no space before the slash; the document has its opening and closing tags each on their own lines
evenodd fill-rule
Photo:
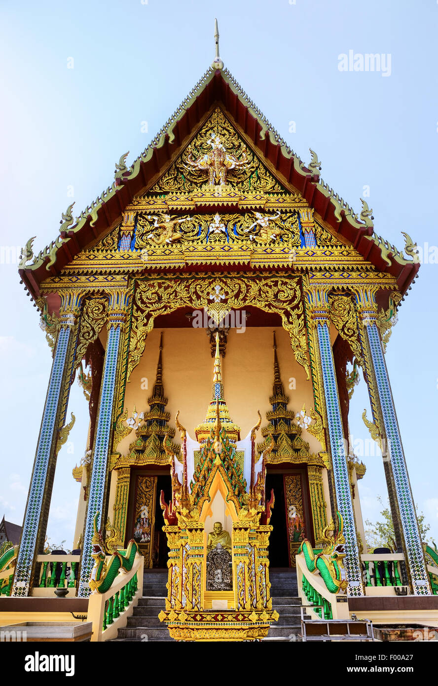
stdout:
<svg viewBox="0 0 438 686">
<path fill-rule="evenodd" d="M 73 375 L 78 301 L 77 294 L 70 293 L 66 296 L 60 308 L 60 320 L 56 322 L 59 331 L 12 585 L 11 595 L 16 597 L 30 595 L 36 571 L 36 558 L 42 553 L 45 542 L 56 468 L 58 431 L 64 425 Z M 51 327 L 53 326 L 54 324 L 51 324 Z"/>
</svg>

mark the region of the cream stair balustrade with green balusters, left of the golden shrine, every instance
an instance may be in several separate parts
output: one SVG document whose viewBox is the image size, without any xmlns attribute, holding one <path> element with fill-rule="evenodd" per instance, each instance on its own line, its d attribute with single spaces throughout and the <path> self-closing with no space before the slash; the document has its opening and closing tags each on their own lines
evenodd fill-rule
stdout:
<svg viewBox="0 0 438 686">
<path fill-rule="evenodd" d="M 106 593 L 98 590 L 91 593 L 87 615 L 87 622 L 93 622 L 91 641 L 114 639 L 119 628 L 126 626 L 127 618 L 143 595 L 144 563 L 143 555 L 137 553 L 130 571 L 121 569 Z"/>
</svg>

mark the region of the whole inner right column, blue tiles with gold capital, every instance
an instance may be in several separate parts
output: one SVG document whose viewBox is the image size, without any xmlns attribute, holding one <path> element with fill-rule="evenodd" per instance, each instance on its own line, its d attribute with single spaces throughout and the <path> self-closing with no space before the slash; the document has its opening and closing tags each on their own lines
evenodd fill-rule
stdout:
<svg viewBox="0 0 438 686">
<path fill-rule="evenodd" d="M 308 303 L 313 327 L 316 327 L 319 361 L 321 363 L 324 402 L 328 423 L 330 454 L 337 509 L 343 519 L 345 536 L 345 570 L 348 578 L 348 595 L 363 595 L 361 560 L 359 558 L 356 526 L 348 478 L 348 466 L 345 453 L 339 394 L 328 319 L 328 300 L 324 289 L 308 292 Z"/>
</svg>

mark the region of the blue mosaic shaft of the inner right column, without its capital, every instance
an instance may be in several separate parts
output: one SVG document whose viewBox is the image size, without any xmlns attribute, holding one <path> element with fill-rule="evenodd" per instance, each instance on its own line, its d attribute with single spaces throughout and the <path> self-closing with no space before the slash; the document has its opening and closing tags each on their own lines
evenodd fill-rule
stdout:
<svg viewBox="0 0 438 686">
<path fill-rule="evenodd" d="M 326 397 L 328 433 L 332 451 L 334 488 L 337 506 L 343 518 L 345 536 L 345 571 L 348 579 L 348 595 L 363 595 L 361 562 L 356 539 L 356 527 L 348 478 L 348 466 L 342 433 L 341 412 L 334 375 L 332 346 L 327 324 L 318 324 L 319 352 L 321 354 L 324 395 Z"/>
</svg>

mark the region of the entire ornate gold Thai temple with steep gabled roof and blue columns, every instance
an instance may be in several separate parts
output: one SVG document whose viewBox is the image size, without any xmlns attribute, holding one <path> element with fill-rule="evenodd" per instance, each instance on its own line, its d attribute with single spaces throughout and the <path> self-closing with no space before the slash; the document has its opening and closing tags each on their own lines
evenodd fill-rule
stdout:
<svg viewBox="0 0 438 686">
<path fill-rule="evenodd" d="M 300 160 L 215 40 L 146 150 L 122 155 L 79 216 L 69 206 L 49 246 L 23 250 L 53 365 L 21 539 L 0 558 L 0 624 L 73 630 L 86 615 L 92 641 L 289 640 L 302 606 L 309 621 L 438 626 L 438 554 L 385 364 L 416 245 L 390 245 L 315 152 Z M 349 444 L 359 375 L 395 534 L 379 552 Z M 75 536 L 50 554 L 75 380 L 90 415 Z"/>
</svg>

